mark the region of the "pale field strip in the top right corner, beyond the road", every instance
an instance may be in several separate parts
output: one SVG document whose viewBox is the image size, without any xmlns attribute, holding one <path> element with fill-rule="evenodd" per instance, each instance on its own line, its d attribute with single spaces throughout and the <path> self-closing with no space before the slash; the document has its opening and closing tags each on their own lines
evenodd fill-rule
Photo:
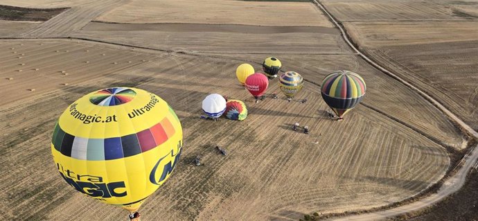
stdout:
<svg viewBox="0 0 478 221">
<path fill-rule="evenodd" d="M 476 19 L 476 6 L 460 1 L 323 0 L 339 21 L 436 21 Z"/>
</svg>

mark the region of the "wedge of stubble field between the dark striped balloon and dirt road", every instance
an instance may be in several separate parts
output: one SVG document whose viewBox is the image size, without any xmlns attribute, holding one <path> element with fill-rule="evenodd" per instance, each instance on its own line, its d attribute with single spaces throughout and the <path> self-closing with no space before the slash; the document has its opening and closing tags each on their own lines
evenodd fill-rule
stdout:
<svg viewBox="0 0 478 221">
<path fill-rule="evenodd" d="M 227 55 L 219 55 L 227 56 Z M 324 77 L 335 70 L 352 70 L 364 78 L 367 83 L 366 98 L 362 105 L 387 114 L 404 125 L 420 131 L 435 141 L 443 142 L 454 148 L 464 148 L 462 137 L 457 129 L 439 110 L 427 104 L 427 101 L 407 87 L 400 85 L 377 69 L 373 69 L 355 55 L 275 55 L 283 64 L 284 71 L 297 71 L 308 80 L 321 85 Z M 267 55 L 235 55 L 246 61 L 260 62 Z M 256 67 L 256 70 L 260 67 Z M 278 91 L 280 92 L 280 91 Z M 317 94 L 320 94 L 317 89 Z"/>
</svg>

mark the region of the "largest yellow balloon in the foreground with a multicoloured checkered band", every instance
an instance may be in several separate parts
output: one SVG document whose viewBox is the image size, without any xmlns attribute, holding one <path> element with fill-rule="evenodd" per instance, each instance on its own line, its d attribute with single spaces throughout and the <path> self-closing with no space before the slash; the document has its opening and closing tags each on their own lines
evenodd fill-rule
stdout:
<svg viewBox="0 0 478 221">
<path fill-rule="evenodd" d="M 69 105 L 55 125 L 51 153 L 76 191 L 133 214 L 170 177 L 182 138 L 179 119 L 159 96 L 114 87 Z"/>
</svg>

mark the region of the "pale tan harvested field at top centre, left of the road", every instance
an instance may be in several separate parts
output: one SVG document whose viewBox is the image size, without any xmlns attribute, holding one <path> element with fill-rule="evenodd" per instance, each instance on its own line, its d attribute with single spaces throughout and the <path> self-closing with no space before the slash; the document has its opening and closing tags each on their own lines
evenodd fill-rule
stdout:
<svg viewBox="0 0 478 221">
<path fill-rule="evenodd" d="M 168 10 L 163 10 L 165 8 Z M 140 24 L 199 23 L 332 27 L 330 21 L 321 14 L 322 12 L 310 2 L 204 0 L 197 4 L 195 0 L 133 0 L 106 12 L 96 20 Z"/>
</svg>

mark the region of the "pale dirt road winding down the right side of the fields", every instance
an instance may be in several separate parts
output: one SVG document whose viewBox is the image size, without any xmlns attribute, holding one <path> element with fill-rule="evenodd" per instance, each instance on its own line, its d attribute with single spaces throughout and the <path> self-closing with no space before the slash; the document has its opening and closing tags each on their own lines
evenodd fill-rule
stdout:
<svg viewBox="0 0 478 221">
<path fill-rule="evenodd" d="M 316 0 L 314 0 L 314 2 L 316 3 L 316 5 L 319 8 L 321 8 L 321 10 L 323 10 L 325 12 L 325 15 L 327 17 L 329 17 L 329 19 L 331 21 L 333 21 L 335 26 L 337 26 L 337 28 L 339 28 L 340 32 L 342 33 L 342 37 L 344 37 L 344 40 L 347 42 L 347 44 L 349 46 L 351 46 L 351 48 L 353 49 L 353 51 L 355 51 L 355 53 L 357 53 L 357 55 L 359 55 L 361 58 L 363 58 L 364 60 L 366 60 L 367 62 L 372 64 L 373 67 L 379 69 L 380 71 L 383 71 L 384 73 L 387 73 L 389 76 L 395 78 L 396 80 L 398 80 L 402 84 L 407 85 L 407 87 L 410 87 L 411 89 L 416 91 L 418 94 L 423 96 L 423 98 L 427 99 L 428 101 L 430 101 L 430 103 L 432 103 L 437 108 L 439 108 L 444 114 L 448 115 L 452 119 L 452 121 L 455 121 L 455 123 L 460 125 L 460 127 L 462 127 L 463 130 L 466 130 L 466 132 L 468 132 L 468 134 L 470 134 L 471 136 L 478 137 L 478 132 L 476 132 L 469 125 L 467 125 L 466 123 L 461 121 L 460 118 L 458 118 L 456 115 L 454 115 L 452 112 L 450 112 L 450 110 L 448 110 L 446 107 L 441 105 L 441 103 L 439 103 L 437 100 L 435 100 L 431 96 L 428 96 L 427 94 L 425 94 L 423 91 L 421 91 L 417 87 L 414 87 L 413 85 L 411 85 L 409 82 L 403 80 L 402 78 L 399 78 L 398 76 L 391 73 L 390 71 L 388 71 L 384 67 L 381 67 L 379 64 L 376 64 L 375 62 L 373 62 L 373 60 L 371 60 L 366 55 L 361 53 L 351 43 L 351 40 L 348 39 L 348 35 L 346 35 L 346 32 L 345 32 L 344 28 L 342 28 L 342 26 L 340 26 L 338 24 L 338 22 L 335 20 L 335 18 L 332 17 L 332 15 L 330 15 L 330 13 L 326 10 L 326 8 L 322 5 L 322 3 L 319 2 L 319 1 L 316 1 Z M 461 163 L 463 163 L 463 166 L 459 169 L 459 171 L 455 175 L 453 175 L 452 177 L 445 180 L 443 186 L 441 186 L 441 188 L 439 189 L 439 191 L 437 193 L 432 194 L 429 197 L 425 197 L 425 198 L 423 198 L 423 200 L 414 202 L 412 204 L 406 204 L 404 206 L 399 206 L 399 207 L 396 207 L 396 208 L 393 208 L 393 209 L 388 209 L 386 211 L 366 213 L 364 215 L 351 215 L 351 216 L 347 216 L 347 217 L 339 218 L 339 219 L 335 219 L 335 220 L 383 220 L 385 218 L 393 217 L 393 216 L 400 215 L 400 214 L 403 214 L 403 213 L 409 213 L 411 211 L 417 211 L 417 210 L 425 209 L 427 206 L 431 206 L 432 204 L 442 200 L 444 197 L 447 197 L 448 195 L 458 191 L 461 188 L 461 186 L 463 186 L 463 184 L 465 183 L 466 175 L 468 174 L 468 172 L 470 171 L 470 169 L 474 165 L 475 161 L 477 161 L 477 159 L 478 159 L 478 145 L 475 146 L 474 148 L 472 148 L 472 150 L 470 152 L 468 152 L 468 154 L 466 154 L 465 157 L 463 157 L 463 160 L 461 161 Z"/>
</svg>

